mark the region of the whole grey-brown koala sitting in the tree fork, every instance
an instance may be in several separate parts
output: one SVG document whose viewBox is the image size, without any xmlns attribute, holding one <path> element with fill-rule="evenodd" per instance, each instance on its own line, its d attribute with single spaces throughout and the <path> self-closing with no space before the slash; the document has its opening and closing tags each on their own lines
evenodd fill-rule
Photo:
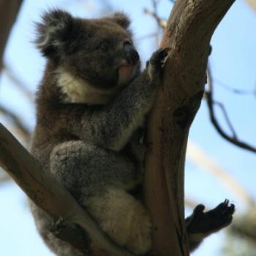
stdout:
<svg viewBox="0 0 256 256">
<path fill-rule="evenodd" d="M 47 58 L 37 91 L 31 154 L 72 194 L 99 227 L 135 255 L 151 249 L 151 218 L 141 196 L 145 118 L 154 103 L 169 49 L 140 56 L 123 13 L 98 19 L 51 10 L 37 23 Z M 190 249 L 230 224 L 234 206 L 195 208 L 186 219 Z M 40 235 L 59 256 L 80 256 L 49 231 L 53 218 L 31 203 Z"/>
</svg>

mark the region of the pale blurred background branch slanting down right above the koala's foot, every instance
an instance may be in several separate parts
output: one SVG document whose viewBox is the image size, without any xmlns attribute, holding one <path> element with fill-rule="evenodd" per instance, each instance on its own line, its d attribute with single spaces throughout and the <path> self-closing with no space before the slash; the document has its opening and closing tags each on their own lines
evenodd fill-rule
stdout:
<svg viewBox="0 0 256 256">
<path fill-rule="evenodd" d="M 227 189 L 230 189 L 230 191 L 237 195 L 237 197 L 241 199 L 241 202 L 246 203 L 249 208 L 255 207 L 255 201 L 249 196 L 246 190 L 241 187 L 238 181 L 220 167 L 217 162 L 214 162 L 213 159 L 204 154 L 203 151 L 191 141 L 189 141 L 187 146 L 187 157 L 198 166 L 203 167 L 203 170 L 211 172 Z"/>
</svg>

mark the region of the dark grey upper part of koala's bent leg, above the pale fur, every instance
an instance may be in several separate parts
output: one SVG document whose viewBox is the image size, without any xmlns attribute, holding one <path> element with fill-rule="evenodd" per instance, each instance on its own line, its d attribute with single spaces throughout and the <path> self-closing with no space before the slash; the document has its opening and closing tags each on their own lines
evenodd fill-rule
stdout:
<svg viewBox="0 0 256 256">
<path fill-rule="evenodd" d="M 59 144 L 50 155 L 50 172 L 81 203 L 85 197 L 99 195 L 106 187 L 132 189 L 135 166 L 116 151 L 99 148 L 80 140 Z"/>
</svg>

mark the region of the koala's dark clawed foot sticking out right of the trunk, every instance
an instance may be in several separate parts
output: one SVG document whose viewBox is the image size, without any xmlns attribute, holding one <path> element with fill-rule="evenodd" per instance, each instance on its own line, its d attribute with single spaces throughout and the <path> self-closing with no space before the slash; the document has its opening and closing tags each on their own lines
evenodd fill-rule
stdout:
<svg viewBox="0 0 256 256">
<path fill-rule="evenodd" d="M 230 225 L 235 212 L 235 206 L 229 204 L 229 200 L 211 211 L 203 212 L 204 209 L 205 206 L 201 204 L 196 206 L 193 214 L 186 219 L 190 249 L 195 249 L 206 236 Z"/>
</svg>

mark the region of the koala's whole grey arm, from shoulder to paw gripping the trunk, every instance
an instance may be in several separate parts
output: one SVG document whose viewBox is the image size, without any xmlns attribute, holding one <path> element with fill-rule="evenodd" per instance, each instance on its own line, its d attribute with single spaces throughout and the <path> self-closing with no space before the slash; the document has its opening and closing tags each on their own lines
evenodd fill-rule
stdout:
<svg viewBox="0 0 256 256">
<path fill-rule="evenodd" d="M 95 146 L 119 151 L 127 144 L 132 133 L 143 124 L 151 109 L 162 68 L 169 49 L 157 50 L 151 56 L 148 67 L 124 88 L 112 102 L 100 108 L 91 108 L 91 113 L 70 107 L 65 118 L 72 133 Z M 73 110 L 72 110 L 73 108 Z M 82 108 L 82 107 L 81 107 Z M 75 124 L 75 125 L 74 125 Z"/>
</svg>

